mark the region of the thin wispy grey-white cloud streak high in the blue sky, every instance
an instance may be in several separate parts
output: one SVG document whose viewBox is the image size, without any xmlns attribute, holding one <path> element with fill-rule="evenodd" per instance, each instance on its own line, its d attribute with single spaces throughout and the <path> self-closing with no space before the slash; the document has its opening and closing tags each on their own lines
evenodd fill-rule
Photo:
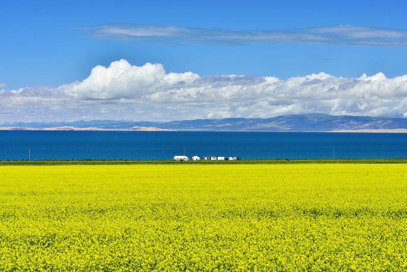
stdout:
<svg viewBox="0 0 407 272">
<path fill-rule="evenodd" d="M 82 26 L 85 35 L 108 39 L 182 41 L 218 44 L 308 43 L 361 46 L 407 46 L 407 30 L 373 28 L 363 25 L 336 25 L 284 31 L 232 31 L 188 28 L 176 25 L 104 24 Z"/>
</svg>

